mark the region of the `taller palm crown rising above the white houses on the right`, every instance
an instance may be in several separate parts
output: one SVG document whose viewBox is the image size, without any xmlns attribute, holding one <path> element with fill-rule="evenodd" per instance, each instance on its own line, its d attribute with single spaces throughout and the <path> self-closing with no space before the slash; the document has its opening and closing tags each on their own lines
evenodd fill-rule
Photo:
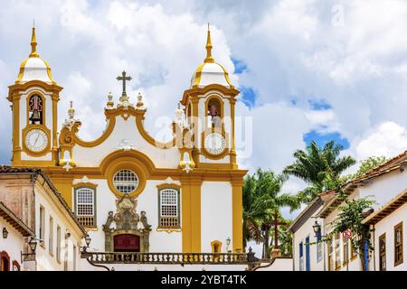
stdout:
<svg viewBox="0 0 407 289">
<path fill-rule="evenodd" d="M 311 185 L 300 191 L 300 198 L 308 202 L 314 200 L 320 192 L 336 189 L 340 174 L 356 163 L 351 156 L 339 157 L 342 149 L 343 146 L 334 141 L 325 144 L 323 148 L 312 141 L 306 151 L 298 150 L 294 153 L 295 162 L 287 166 L 283 173 L 296 176 Z"/>
</svg>

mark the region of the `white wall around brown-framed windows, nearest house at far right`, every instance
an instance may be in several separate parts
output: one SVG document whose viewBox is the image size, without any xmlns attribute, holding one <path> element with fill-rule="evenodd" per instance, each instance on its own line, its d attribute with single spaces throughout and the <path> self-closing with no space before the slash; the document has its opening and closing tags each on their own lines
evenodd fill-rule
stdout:
<svg viewBox="0 0 407 289">
<path fill-rule="evenodd" d="M 402 252 L 403 262 L 398 266 L 394 266 L 394 226 L 402 222 Z M 386 270 L 387 271 L 406 271 L 407 270 L 407 203 L 403 204 L 392 214 L 379 221 L 374 225 L 374 262 L 376 270 L 380 270 L 379 266 L 379 238 L 384 233 L 386 234 Z"/>
</svg>

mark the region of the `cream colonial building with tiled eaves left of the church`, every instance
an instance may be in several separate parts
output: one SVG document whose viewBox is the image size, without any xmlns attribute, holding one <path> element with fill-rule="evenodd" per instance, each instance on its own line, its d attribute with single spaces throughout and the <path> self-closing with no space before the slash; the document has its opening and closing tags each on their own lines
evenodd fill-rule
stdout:
<svg viewBox="0 0 407 289">
<path fill-rule="evenodd" d="M 80 270 L 87 232 L 39 169 L 0 166 L 1 269 Z"/>
</svg>

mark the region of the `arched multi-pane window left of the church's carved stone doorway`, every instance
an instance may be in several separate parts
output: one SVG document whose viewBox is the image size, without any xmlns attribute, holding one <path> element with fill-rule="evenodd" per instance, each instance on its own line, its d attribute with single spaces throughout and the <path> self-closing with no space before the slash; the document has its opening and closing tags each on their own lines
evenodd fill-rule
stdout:
<svg viewBox="0 0 407 289">
<path fill-rule="evenodd" d="M 96 226 L 95 207 L 95 189 L 80 187 L 75 190 L 75 212 L 82 226 Z"/>
</svg>

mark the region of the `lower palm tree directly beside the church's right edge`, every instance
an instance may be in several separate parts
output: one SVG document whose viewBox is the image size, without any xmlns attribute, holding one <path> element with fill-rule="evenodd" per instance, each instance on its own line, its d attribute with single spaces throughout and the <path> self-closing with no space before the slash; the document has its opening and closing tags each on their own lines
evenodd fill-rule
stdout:
<svg viewBox="0 0 407 289">
<path fill-rule="evenodd" d="M 281 207 L 289 207 L 291 211 L 299 209 L 300 201 L 297 196 L 280 193 L 286 180 L 286 175 L 276 175 L 272 171 L 262 171 L 261 169 L 245 178 L 243 185 L 243 247 L 246 247 L 250 240 L 254 240 L 258 244 L 266 241 L 263 249 L 268 250 L 269 242 L 261 235 L 261 223 L 269 221 L 274 213 L 279 213 Z"/>
</svg>

